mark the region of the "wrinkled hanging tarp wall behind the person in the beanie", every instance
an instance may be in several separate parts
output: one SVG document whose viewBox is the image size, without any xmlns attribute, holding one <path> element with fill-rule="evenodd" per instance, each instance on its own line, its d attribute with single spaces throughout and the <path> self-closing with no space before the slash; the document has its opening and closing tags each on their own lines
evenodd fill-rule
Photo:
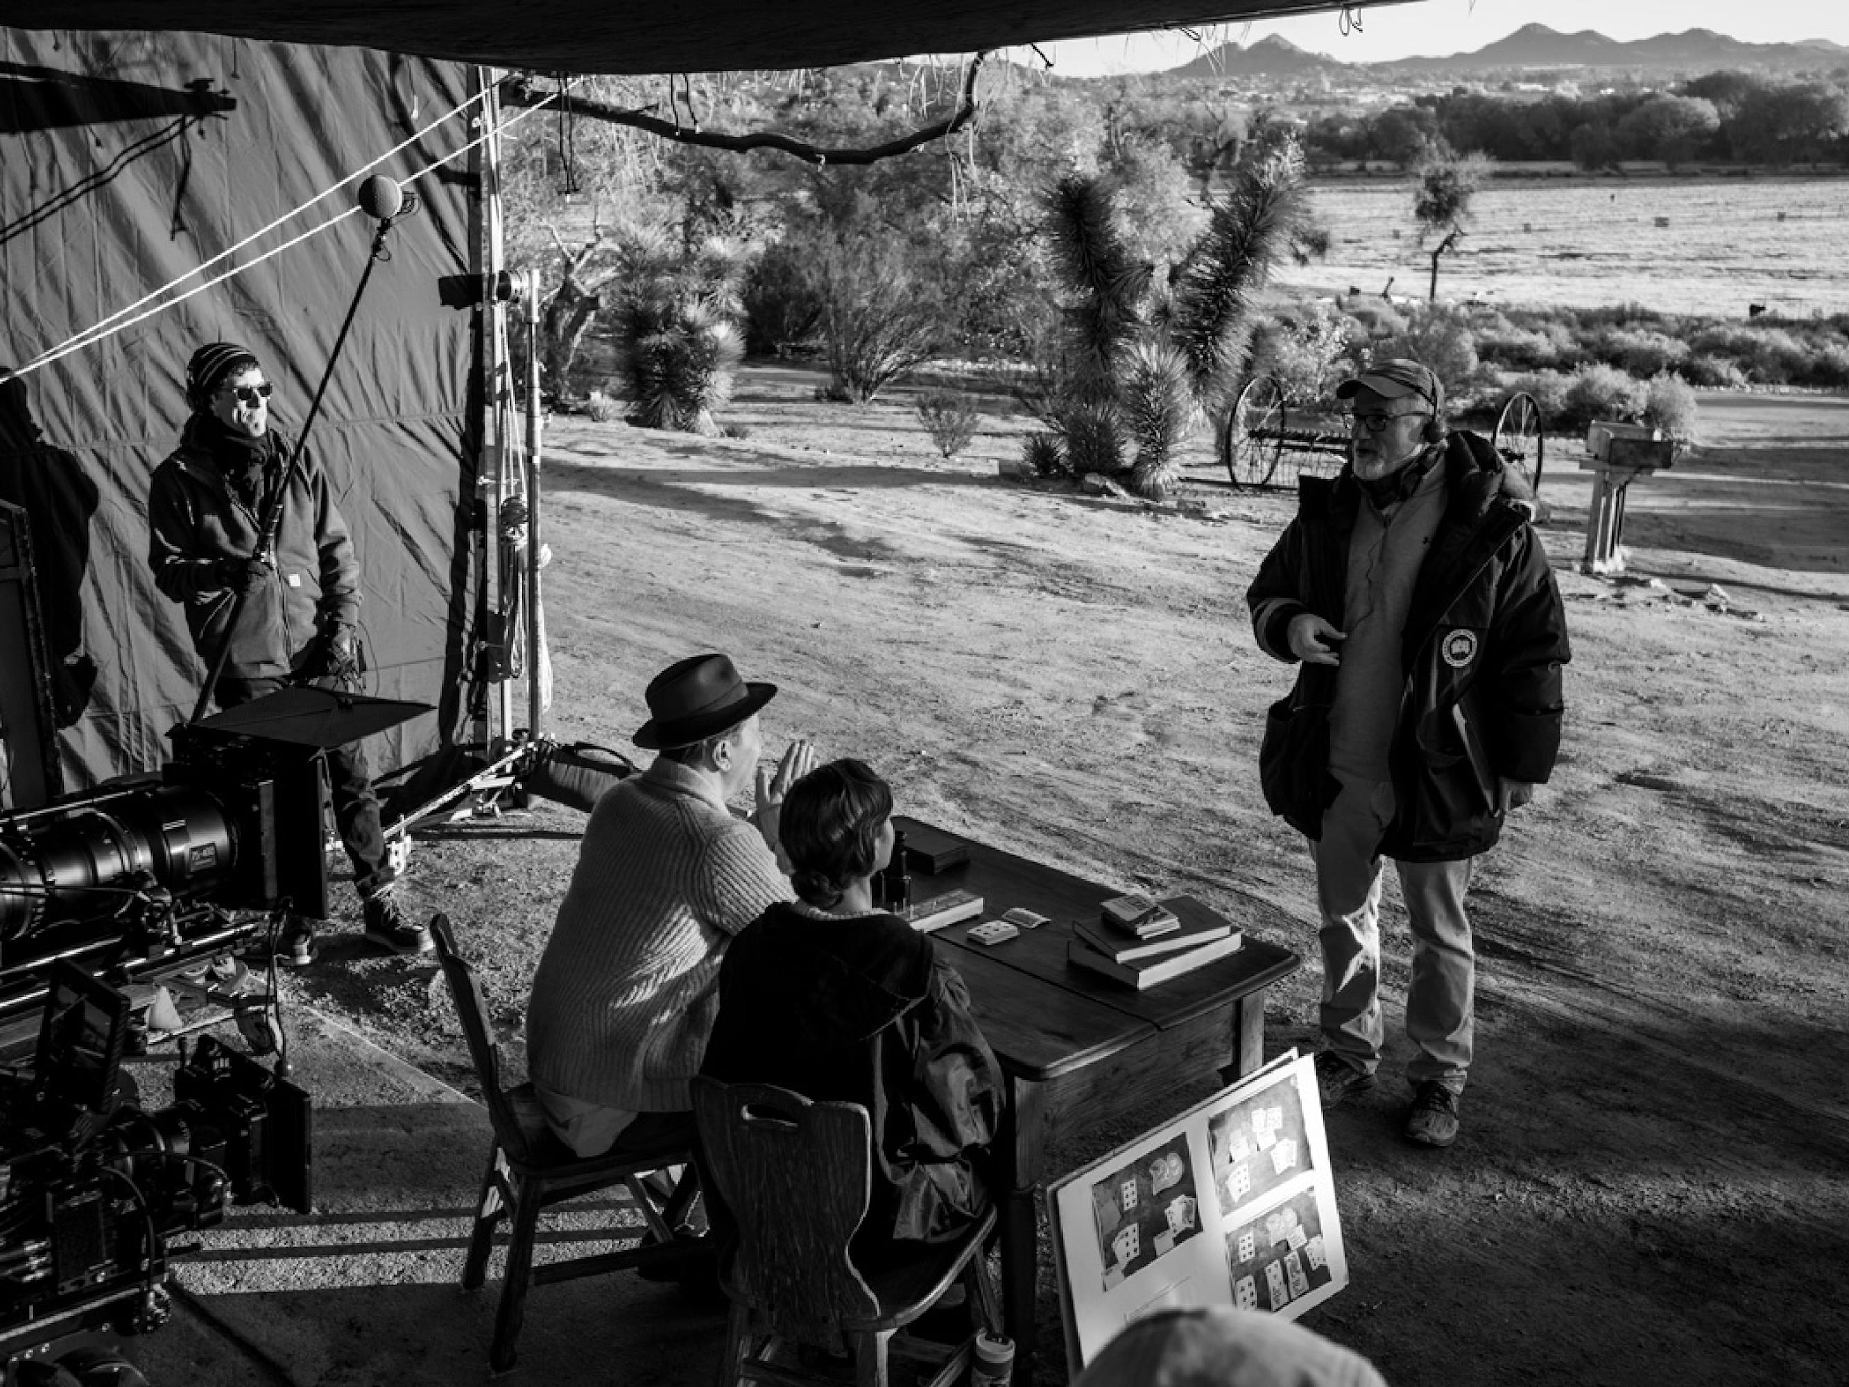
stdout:
<svg viewBox="0 0 1849 1387">
<path fill-rule="evenodd" d="M 67 790 L 161 766 L 203 677 L 146 564 L 148 481 L 187 416 L 187 357 L 200 342 L 250 346 L 276 383 L 272 416 L 298 435 L 377 222 L 353 213 L 257 261 L 353 209 L 353 170 L 407 141 L 373 172 L 403 181 L 422 209 L 390 229 L 309 451 L 359 551 L 366 692 L 440 708 L 377 740 L 375 769 L 460 725 L 475 313 L 444 307 L 438 290 L 471 270 L 477 209 L 466 153 L 435 165 L 466 150 L 470 113 L 418 131 L 466 98 L 464 68 L 364 48 L 0 28 L 0 368 L 170 281 L 183 292 L 244 266 L 0 381 L 0 499 L 30 516 Z M 324 190 L 333 196 L 183 279 Z"/>
</svg>

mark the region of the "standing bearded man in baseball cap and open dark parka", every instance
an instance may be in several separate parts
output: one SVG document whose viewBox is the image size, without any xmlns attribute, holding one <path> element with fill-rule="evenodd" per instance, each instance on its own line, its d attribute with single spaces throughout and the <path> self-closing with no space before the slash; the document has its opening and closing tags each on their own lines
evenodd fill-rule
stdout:
<svg viewBox="0 0 1849 1387">
<path fill-rule="evenodd" d="M 1413 930 L 1407 1139 L 1450 1147 L 1472 1060 L 1470 864 L 1553 771 L 1566 608 L 1520 475 L 1444 423 L 1444 387 L 1396 357 L 1344 381 L 1348 466 L 1298 483 L 1298 514 L 1246 592 L 1259 649 L 1300 664 L 1272 705 L 1265 801 L 1311 840 L 1324 1106 L 1381 1063 L 1381 856 Z"/>
</svg>

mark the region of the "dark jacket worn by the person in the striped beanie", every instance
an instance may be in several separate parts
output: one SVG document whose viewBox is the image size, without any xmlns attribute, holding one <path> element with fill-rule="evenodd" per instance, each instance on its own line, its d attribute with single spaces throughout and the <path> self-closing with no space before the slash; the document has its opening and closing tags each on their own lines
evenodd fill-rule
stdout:
<svg viewBox="0 0 1849 1387">
<path fill-rule="evenodd" d="M 148 566 L 153 584 L 183 603 L 192 649 L 211 660 L 224 640 L 235 594 L 222 586 L 220 558 L 248 558 L 263 522 L 226 483 L 200 438 L 202 416 L 187 420 L 179 448 L 148 488 Z M 288 440 L 270 431 L 270 468 L 283 468 Z M 244 601 L 227 679 L 279 679 L 314 658 L 314 642 L 359 616 L 359 564 L 325 473 L 307 457 L 288 468 L 276 570 Z"/>
</svg>

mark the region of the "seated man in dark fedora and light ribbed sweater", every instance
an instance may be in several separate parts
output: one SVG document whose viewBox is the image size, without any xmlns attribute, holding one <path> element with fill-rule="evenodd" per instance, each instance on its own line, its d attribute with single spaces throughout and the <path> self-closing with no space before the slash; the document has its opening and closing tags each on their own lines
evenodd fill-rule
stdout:
<svg viewBox="0 0 1849 1387">
<path fill-rule="evenodd" d="M 533 1087 L 579 1156 L 692 1139 L 688 1080 L 719 1008 L 725 945 L 793 899 L 777 816 L 815 753 L 791 742 L 775 775 L 758 767 L 758 710 L 775 694 L 725 655 L 658 673 L 634 736 L 655 764 L 605 793 L 584 827 L 527 1006 Z M 727 801 L 753 782 L 756 812 L 738 819 Z"/>
</svg>

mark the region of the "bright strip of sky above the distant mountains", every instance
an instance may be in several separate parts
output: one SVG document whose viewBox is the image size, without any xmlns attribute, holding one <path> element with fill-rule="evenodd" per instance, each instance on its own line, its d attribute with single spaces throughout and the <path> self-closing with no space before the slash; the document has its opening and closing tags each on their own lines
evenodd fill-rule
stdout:
<svg viewBox="0 0 1849 1387">
<path fill-rule="evenodd" d="M 1361 22 L 1342 33 L 1339 13 L 1222 24 L 1200 30 L 1124 33 L 1104 39 L 1065 39 L 1041 44 L 1054 72 L 1071 78 L 1113 72 L 1156 72 L 1182 67 L 1220 43 L 1255 43 L 1270 33 L 1298 48 L 1344 63 L 1381 63 L 1394 57 L 1448 57 L 1483 48 L 1524 24 L 1546 24 L 1561 33 L 1596 30 L 1607 39 L 1649 39 L 1657 33 L 1714 30 L 1747 43 L 1829 39 L 1849 46 L 1845 0 L 1416 0 L 1414 4 L 1357 6 Z M 1039 61 L 1032 48 L 1008 50 L 1021 63 Z"/>
</svg>

